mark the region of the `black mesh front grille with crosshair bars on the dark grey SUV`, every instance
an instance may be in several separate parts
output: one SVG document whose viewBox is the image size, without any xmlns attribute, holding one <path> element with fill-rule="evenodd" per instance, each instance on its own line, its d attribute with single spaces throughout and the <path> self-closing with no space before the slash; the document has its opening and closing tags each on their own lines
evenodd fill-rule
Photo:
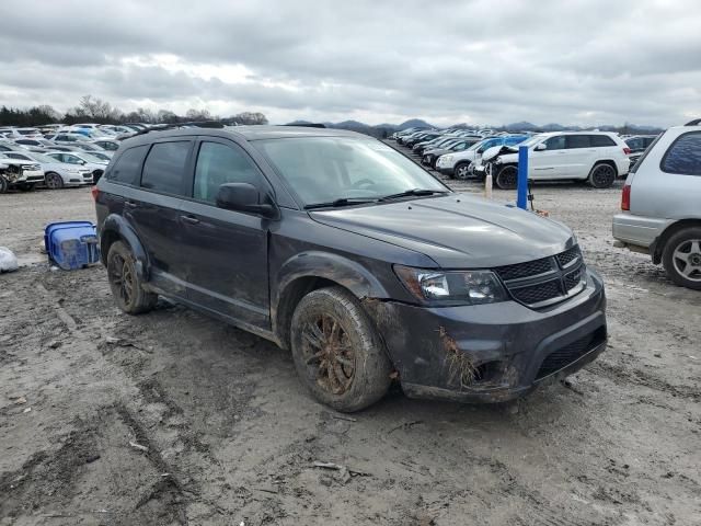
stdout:
<svg viewBox="0 0 701 526">
<path fill-rule="evenodd" d="M 564 301 L 584 288 L 586 271 L 578 247 L 551 258 L 498 266 L 494 272 L 504 281 L 512 297 L 528 307 L 540 308 Z"/>
</svg>

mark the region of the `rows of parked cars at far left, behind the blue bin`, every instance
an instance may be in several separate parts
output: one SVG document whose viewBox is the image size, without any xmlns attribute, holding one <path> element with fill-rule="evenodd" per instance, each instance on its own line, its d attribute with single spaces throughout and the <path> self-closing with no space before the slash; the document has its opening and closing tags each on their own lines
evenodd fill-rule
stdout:
<svg viewBox="0 0 701 526">
<path fill-rule="evenodd" d="M 120 140 L 146 127 L 85 123 L 0 128 L 0 193 L 94 184 Z"/>
</svg>

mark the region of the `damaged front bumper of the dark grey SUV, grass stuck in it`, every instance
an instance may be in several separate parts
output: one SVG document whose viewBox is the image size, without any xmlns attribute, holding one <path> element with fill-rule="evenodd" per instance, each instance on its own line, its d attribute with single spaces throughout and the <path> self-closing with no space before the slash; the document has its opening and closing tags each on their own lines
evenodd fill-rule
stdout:
<svg viewBox="0 0 701 526">
<path fill-rule="evenodd" d="M 578 370 L 606 350 L 606 295 L 591 271 L 579 294 L 548 309 L 516 301 L 366 305 L 412 398 L 503 402 Z"/>
</svg>

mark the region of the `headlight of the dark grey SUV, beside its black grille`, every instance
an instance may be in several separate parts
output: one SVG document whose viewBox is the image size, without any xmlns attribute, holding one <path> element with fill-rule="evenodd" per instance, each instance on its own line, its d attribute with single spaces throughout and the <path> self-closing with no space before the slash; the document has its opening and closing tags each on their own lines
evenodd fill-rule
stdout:
<svg viewBox="0 0 701 526">
<path fill-rule="evenodd" d="M 504 287 L 491 271 L 439 271 L 394 265 L 394 272 L 409 291 L 425 302 L 481 305 L 507 300 Z"/>
</svg>

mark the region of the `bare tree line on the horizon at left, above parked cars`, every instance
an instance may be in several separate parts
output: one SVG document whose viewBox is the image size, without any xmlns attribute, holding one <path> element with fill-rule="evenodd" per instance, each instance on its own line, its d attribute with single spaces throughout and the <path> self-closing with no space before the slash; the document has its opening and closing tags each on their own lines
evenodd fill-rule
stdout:
<svg viewBox="0 0 701 526">
<path fill-rule="evenodd" d="M 78 105 L 66 113 L 56 111 L 48 104 L 42 104 L 30 108 L 18 108 L 2 105 L 0 107 L 0 126 L 41 126 L 44 124 L 179 124 L 193 121 L 220 121 L 227 124 L 267 124 L 267 118 L 260 112 L 243 112 L 228 117 L 212 115 L 207 108 L 187 110 L 185 115 L 177 115 L 170 110 L 152 111 L 139 107 L 134 112 L 125 113 L 107 101 L 83 95 Z"/>
</svg>

